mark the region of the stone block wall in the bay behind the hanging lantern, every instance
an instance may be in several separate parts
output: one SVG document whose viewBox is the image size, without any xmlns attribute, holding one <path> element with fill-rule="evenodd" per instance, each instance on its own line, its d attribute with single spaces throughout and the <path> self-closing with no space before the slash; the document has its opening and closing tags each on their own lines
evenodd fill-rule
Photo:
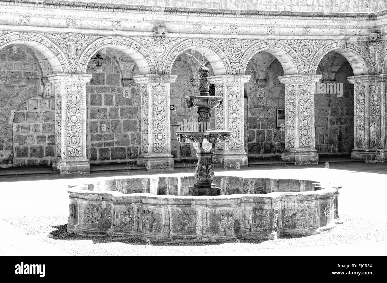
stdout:
<svg viewBox="0 0 387 283">
<path fill-rule="evenodd" d="M 140 150 L 140 87 L 133 83 L 123 98 L 122 69 L 117 52 L 107 50 L 103 67 L 87 66 L 92 79 L 86 86 L 87 157 L 90 163 L 135 162 Z M 127 58 L 128 56 L 126 56 Z M 127 64 L 127 66 L 133 66 Z M 138 75 L 137 66 L 133 75 Z"/>
</svg>

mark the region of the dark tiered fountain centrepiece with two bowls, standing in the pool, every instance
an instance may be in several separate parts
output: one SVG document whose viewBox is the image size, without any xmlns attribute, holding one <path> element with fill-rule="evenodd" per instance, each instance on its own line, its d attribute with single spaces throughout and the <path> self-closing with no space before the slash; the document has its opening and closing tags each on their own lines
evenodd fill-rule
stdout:
<svg viewBox="0 0 387 283">
<path fill-rule="evenodd" d="M 213 183 L 214 170 L 211 166 L 212 150 L 218 142 L 228 142 L 232 131 L 210 130 L 211 108 L 220 107 L 223 97 L 210 96 L 208 85 L 209 69 L 199 69 L 199 95 L 188 95 L 185 97 L 187 107 L 197 108 L 198 127 L 197 131 L 177 131 L 176 136 L 180 143 L 193 143 L 197 151 L 197 166 L 195 169 L 196 183 L 190 186 L 190 195 L 220 195 L 220 188 Z"/>
</svg>

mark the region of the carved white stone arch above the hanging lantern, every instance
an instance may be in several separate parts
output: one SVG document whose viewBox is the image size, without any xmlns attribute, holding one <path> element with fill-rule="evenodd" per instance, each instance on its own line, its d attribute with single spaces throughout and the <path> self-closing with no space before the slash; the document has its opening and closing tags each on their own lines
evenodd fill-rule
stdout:
<svg viewBox="0 0 387 283">
<path fill-rule="evenodd" d="M 86 72 L 92 56 L 102 48 L 111 47 L 128 54 L 137 64 L 142 74 L 156 74 L 157 67 L 151 53 L 139 42 L 123 36 L 106 36 L 93 41 L 80 55 L 77 72 Z"/>
</svg>

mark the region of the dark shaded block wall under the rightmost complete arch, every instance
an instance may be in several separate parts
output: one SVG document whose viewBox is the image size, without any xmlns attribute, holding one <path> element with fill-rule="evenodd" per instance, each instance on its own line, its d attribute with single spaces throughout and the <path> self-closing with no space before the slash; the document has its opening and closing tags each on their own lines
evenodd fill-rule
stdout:
<svg viewBox="0 0 387 283">
<path fill-rule="evenodd" d="M 342 97 L 336 93 L 315 94 L 315 148 L 319 154 L 351 153 L 354 147 L 354 92 L 347 80 L 353 71 L 344 61 L 337 71 L 332 68 L 337 60 L 332 58 L 333 63 L 322 66 L 322 80 L 333 78 L 332 82 L 342 83 L 343 92 Z"/>
</svg>

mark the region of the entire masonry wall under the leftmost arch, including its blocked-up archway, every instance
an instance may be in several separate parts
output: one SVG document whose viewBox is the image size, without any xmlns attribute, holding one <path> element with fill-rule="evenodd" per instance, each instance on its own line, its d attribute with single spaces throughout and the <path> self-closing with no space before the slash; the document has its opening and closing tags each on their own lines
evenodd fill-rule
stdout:
<svg viewBox="0 0 387 283">
<path fill-rule="evenodd" d="M 0 50 L 0 167 L 51 164 L 54 105 L 53 98 L 43 98 L 41 80 L 51 73 L 33 48 Z"/>
</svg>

